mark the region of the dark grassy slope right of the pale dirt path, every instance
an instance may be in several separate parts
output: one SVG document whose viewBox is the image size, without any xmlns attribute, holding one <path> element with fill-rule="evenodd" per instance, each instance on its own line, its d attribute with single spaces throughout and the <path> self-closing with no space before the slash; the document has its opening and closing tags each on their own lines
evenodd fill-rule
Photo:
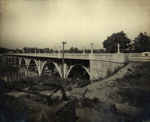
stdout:
<svg viewBox="0 0 150 122">
<path fill-rule="evenodd" d="M 120 102 L 128 102 L 136 107 L 148 106 L 150 103 L 150 63 L 136 66 L 132 73 L 124 75 L 123 78 L 117 78 L 116 82 L 120 88 L 117 94 L 122 96 Z"/>
</svg>

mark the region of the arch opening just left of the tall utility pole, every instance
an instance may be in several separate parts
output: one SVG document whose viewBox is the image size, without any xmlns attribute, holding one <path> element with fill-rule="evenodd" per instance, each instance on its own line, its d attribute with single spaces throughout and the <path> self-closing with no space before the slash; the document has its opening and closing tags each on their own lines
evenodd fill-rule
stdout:
<svg viewBox="0 0 150 122">
<path fill-rule="evenodd" d="M 41 68 L 41 75 L 60 78 L 60 69 L 57 64 L 51 60 L 45 61 Z"/>
</svg>

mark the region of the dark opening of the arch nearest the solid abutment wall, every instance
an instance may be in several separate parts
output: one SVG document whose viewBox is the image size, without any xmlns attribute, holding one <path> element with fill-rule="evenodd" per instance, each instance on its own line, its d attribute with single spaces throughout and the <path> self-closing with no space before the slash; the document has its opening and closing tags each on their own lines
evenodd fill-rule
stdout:
<svg viewBox="0 0 150 122">
<path fill-rule="evenodd" d="M 70 67 L 68 73 L 68 78 L 75 78 L 81 80 L 89 80 L 90 73 L 88 69 L 80 64 L 76 64 Z"/>
</svg>

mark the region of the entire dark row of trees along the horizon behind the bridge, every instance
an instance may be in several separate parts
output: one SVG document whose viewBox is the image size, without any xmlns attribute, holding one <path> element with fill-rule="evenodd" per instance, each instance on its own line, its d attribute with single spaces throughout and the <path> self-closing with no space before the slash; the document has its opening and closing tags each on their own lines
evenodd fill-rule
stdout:
<svg viewBox="0 0 150 122">
<path fill-rule="evenodd" d="M 103 41 L 103 48 L 105 49 L 94 49 L 93 53 L 117 53 L 118 47 L 120 45 L 121 53 L 141 53 L 150 51 L 150 36 L 146 32 L 140 33 L 134 40 L 131 40 L 127 37 L 127 34 L 124 31 L 113 33 L 111 36 L 108 36 L 106 40 Z M 49 49 L 49 48 L 30 48 L 24 47 L 22 50 L 19 49 L 7 49 L 0 48 L 0 53 L 59 53 L 59 50 Z M 60 51 L 62 53 L 62 50 Z M 65 53 L 83 53 L 83 50 L 78 49 L 77 47 L 71 47 L 69 50 L 65 49 Z M 85 49 L 85 53 L 90 53 L 91 49 Z"/>
</svg>

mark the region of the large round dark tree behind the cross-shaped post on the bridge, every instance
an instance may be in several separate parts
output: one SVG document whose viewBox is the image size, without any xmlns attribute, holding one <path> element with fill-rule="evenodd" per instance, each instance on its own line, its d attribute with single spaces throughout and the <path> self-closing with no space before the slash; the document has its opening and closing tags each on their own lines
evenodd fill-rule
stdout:
<svg viewBox="0 0 150 122">
<path fill-rule="evenodd" d="M 106 48 L 107 53 L 117 53 L 117 44 L 120 44 L 120 52 L 129 52 L 131 40 L 127 35 L 121 31 L 114 33 L 103 42 L 103 47 Z"/>
</svg>

